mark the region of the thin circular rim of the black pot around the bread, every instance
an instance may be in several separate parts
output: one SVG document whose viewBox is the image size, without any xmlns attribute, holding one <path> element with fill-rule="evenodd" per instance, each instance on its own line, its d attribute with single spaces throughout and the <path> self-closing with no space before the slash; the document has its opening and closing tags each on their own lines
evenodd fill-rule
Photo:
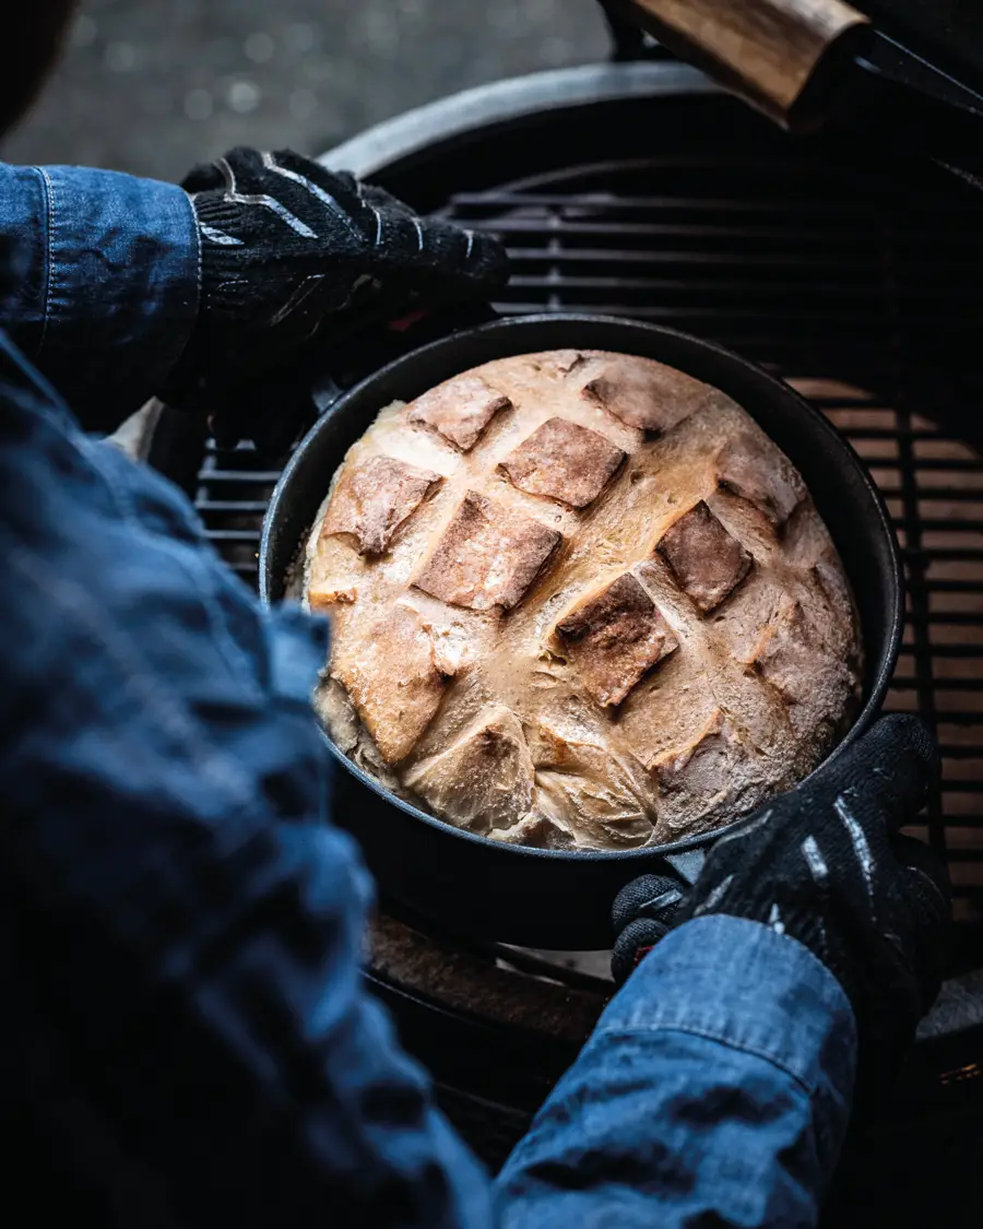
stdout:
<svg viewBox="0 0 983 1229">
<path fill-rule="evenodd" d="M 840 741 L 833 747 L 833 750 L 827 755 L 806 777 L 802 778 L 804 782 L 811 779 L 820 769 L 827 767 L 840 755 L 843 755 L 848 747 L 850 747 L 859 737 L 861 737 L 867 729 L 872 725 L 874 720 L 877 718 L 881 705 L 883 703 L 885 696 L 887 694 L 891 677 L 895 672 L 897 665 L 897 659 L 901 651 L 902 637 L 904 632 L 904 597 L 906 597 L 906 585 L 904 585 L 904 570 L 901 560 L 901 552 L 898 548 L 897 536 L 893 531 L 891 517 L 887 511 L 887 506 L 883 500 L 883 495 L 879 490 L 876 483 L 871 478 L 866 466 L 858 456 L 853 445 L 843 436 L 840 431 L 805 397 L 801 396 L 791 385 L 786 383 L 770 372 L 766 371 L 763 367 L 748 359 L 742 358 L 740 354 L 735 354 L 732 350 L 726 349 L 723 345 L 718 345 L 715 342 L 709 342 L 702 337 L 695 337 L 692 333 L 682 332 L 681 329 L 667 328 L 662 324 L 652 324 L 648 321 L 638 321 L 629 316 L 606 316 L 595 312 L 538 312 L 535 315 L 522 315 L 522 316 L 510 316 L 501 320 L 495 320 L 489 323 L 478 324 L 471 328 L 463 328 L 460 332 L 453 332 L 446 337 L 437 338 L 436 340 L 428 342 L 408 353 L 393 359 L 391 363 L 385 364 L 377 370 L 372 371 L 365 379 L 360 380 L 358 383 L 353 385 L 351 388 L 345 390 L 338 398 L 335 398 L 331 406 L 321 414 L 316 423 L 310 428 L 304 439 L 294 450 L 292 456 L 284 467 L 274 489 L 270 495 L 267 511 L 263 517 L 263 531 L 259 541 L 259 559 L 258 559 L 258 575 L 259 575 L 259 599 L 264 606 L 275 606 L 281 597 L 273 596 L 275 589 L 283 586 L 284 578 L 274 576 L 272 573 L 272 554 L 274 551 L 273 536 L 275 526 L 279 524 L 281 516 L 285 515 L 285 510 L 289 508 L 290 501 L 290 488 L 294 482 L 294 474 L 302 468 L 305 457 L 307 452 L 315 447 L 315 441 L 317 440 L 321 431 L 324 429 L 327 422 L 331 419 L 332 413 L 347 402 L 349 398 L 364 395 L 366 387 L 380 382 L 383 377 L 388 376 L 397 369 L 402 366 L 410 366 L 414 360 L 420 355 L 431 354 L 433 351 L 447 348 L 453 349 L 456 345 L 460 348 L 461 343 L 476 334 L 489 334 L 489 333 L 504 333 L 509 336 L 509 331 L 519 328 L 521 326 L 536 326 L 538 323 L 549 322 L 553 326 L 558 323 L 570 323 L 578 326 L 590 326 L 601 324 L 605 327 L 611 326 L 628 326 L 632 329 L 644 329 L 649 333 L 656 333 L 661 336 L 667 336 L 672 338 L 678 338 L 686 343 L 695 344 L 704 350 L 714 353 L 719 359 L 732 365 L 737 365 L 745 371 L 753 375 L 754 379 L 770 385 L 775 393 L 780 395 L 785 399 L 794 399 L 797 402 L 800 410 L 806 417 L 813 420 L 813 425 L 823 431 L 839 450 L 842 463 L 844 467 L 853 469 L 855 477 L 858 477 L 861 484 L 866 488 L 866 493 L 872 503 L 872 511 L 876 514 L 880 521 L 881 536 L 888 547 L 888 554 L 891 560 L 891 571 L 893 573 L 893 600 L 891 594 L 883 595 L 883 618 L 887 627 L 885 635 L 883 649 L 880 654 L 880 665 L 877 667 L 876 675 L 869 680 L 870 691 L 866 693 L 864 703 L 856 714 L 850 729 L 843 735 Z M 555 348 L 555 347 L 554 347 Z M 571 347 L 578 348 L 578 347 Z M 590 347 L 581 347 L 589 349 Z M 533 353 L 528 349 L 510 350 L 505 348 L 499 358 L 511 356 L 512 354 L 527 354 Z M 630 349 L 623 349 L 614 353 L 630 354 Z M 641 355 L 645 356 L 645 355 Z M 487 359 L 485 361 L 494 361 L 493 359 Z M 461 369 L 467 370 L 467 367 Z M 682 369 L 679 369 L 682 370 Z M 447 376 L 446 379 L 452 379 Z M 381 404 L 380 409 L 383 408 Z M 753 408 L 742 406 L 745 412 L 756 418 Z M 353 440 L 354 442 L 354 440 Z M 350 446 L 350 445 L 349 445 Z M 327 484 L 324 487 L 324 494 L 327 494 Z M 323 498 L 323 497 L 322 497 Z M 305 531 L 310 533 L 310 526 Z M 306 537 L 305 537 L 306 541 Z M 296 546 L 300 547 L 301 541 L 297 541 Z M 839 553 L 839 544 L 837 546 Z M 852 578 L 848 576 L 852 580 Z M 853 589 L 853 583 L 850 585 Z M 861 626 L 861 640 L 865 639 L 864 629 Z M 866 648 L 866 646 L 865 646 Z M 312 714 L 313 717 L 313 714 Z M 313 717 L 317 720 L 316 717 Z M 569 862 L 584 864 L 585 862 L 623 862 L 625 859 L 638 859 L 639 862 L 651 862 L 655 858 L 662 858 L 672 854 L 681 854 L 693 849 L 703 849 L 709 844 L 719 841 L 723 836 L 732 832 L 740 826 L 746 816 L 740 820 L 732 821 L 731 823 L 724 825 L 721 827 L 714 828 L 710 832 L 702 832 L 692 837 L 686 837 L 681 841 L 675 841 L 668 844 L 645 844 L 634 846 L 630 849 L 539 849 L 535 846 L 523 844 L 510 844 L 507 842 L 492 841 L 488 837 L 480 836 L 474 832 L 468 832 L 463 828 L 458 828 L 452 823 L 447 823 L 444 820 L 437 819 L 435 815 L 429 815 L 426 811 L 420 810 L 412 803 L 407 803 L 404 799 L 398 798 L 390 789 L 387 789 L 381 782 L 376 780 L 371 774 L 364 772 L 358 764 L 353 763 L 348 756 L 334 744 L 328 731 L 323 728 L 321 721 L 318 724 L 318 730 L 321 731 L 328 750 L 337 762 L 339 762 L 356 780 L 362 785 L 371 789 L 378 798 L 385 803 L 396 806 L 398 810 L 403 811 L 409 817 L 426 823 L 429 827 L 446 834 L 447 837 L 457 838 L 461 841 L 471 842 L 472 844 L 488 848 L 492 846 L 496 850 L 509 850 L 516 855 L 522 855 L 531 859 L 541 859 L 544 862 Z"/>
</svg>

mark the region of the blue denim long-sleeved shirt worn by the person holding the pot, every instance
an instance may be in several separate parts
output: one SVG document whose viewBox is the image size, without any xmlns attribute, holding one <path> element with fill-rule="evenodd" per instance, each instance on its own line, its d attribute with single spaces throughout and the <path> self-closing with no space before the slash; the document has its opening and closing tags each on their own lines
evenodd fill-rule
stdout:
<svg viewBox="0 0 983 1229">
<path fill-rule="evenodd" d="M 457 1138 L 361 978 L 372 885 L 307 701 L 326 627 L 260 610 L 66 409 L 104 425 L 179 354 L 188 200 L 0 176 L 0 1105 L 32 1198 L 58 1170 L 128 1229 L 815 1224 L 854 1020 L 752 922 L 641 962 L 496 1180 Z"/>
</svg>

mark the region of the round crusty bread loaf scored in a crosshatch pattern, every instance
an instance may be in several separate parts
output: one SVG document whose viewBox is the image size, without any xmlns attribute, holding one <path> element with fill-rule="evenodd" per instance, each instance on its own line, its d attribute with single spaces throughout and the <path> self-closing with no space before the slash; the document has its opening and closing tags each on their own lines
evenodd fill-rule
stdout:
<svg viewBox="0 0 983 1229">
<path fill-rule="evenodd" d="M 324 476 L 326 489 L 329 476 Z M 858 618 L 801 477 L 720 391 L 550 351 L 381 410 L 305 596 L 342 751 L 447 823 L 665 844 L 809 773 L 860 696 Z"/>
</svg>

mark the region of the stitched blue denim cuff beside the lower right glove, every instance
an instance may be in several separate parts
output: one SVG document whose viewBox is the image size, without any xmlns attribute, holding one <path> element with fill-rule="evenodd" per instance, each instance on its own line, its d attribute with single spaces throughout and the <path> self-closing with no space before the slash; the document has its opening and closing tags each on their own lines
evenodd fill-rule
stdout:
<svg viewBox="0 0 983 1229">
<path fill-rule="evenodd" d="M 643 960 L 608 1005 L 603 1032 L 676 1030 L 766 1058 L 812 1096 L 853 1086 L 856 1024 L 839 982 L 812 952 L 769 927 L 694 918 Z"/>
</svg>

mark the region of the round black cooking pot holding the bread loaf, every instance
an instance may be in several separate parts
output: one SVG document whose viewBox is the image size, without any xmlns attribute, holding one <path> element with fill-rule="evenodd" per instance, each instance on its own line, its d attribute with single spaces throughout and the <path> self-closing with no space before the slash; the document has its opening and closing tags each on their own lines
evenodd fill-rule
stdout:
<svg viewBox="0 0 983 1229">
<path fill-rule="evenodd" d="M 788 385 L 708 342 L 634 321 L 549 315 L 503 320 L 445 337 L 383 366 L 323 413 L 283 472 L 259 548 L 263 601 L 283 597 L 288 569 L 332 474 L 383 406 L 492 359 L 552 349 L 616 350 L 657 359 L 729 393 L 791 458 L 843 559 L 860 610 L 864 707 L 832 752 L 866 730 L 883 701 L 901 644 L 903 580 L 887 511 L 853 449 Z M 359 841 L 383 896 L 460 933 L 531 948 L 611 943 L 611 902 L 646 871 L 692 881 L 720 831 L 624 852 L 531 849 L 462 832 L 401 801 L 326 735 L 335 773 L 334 819 Z"/>
</svg>

